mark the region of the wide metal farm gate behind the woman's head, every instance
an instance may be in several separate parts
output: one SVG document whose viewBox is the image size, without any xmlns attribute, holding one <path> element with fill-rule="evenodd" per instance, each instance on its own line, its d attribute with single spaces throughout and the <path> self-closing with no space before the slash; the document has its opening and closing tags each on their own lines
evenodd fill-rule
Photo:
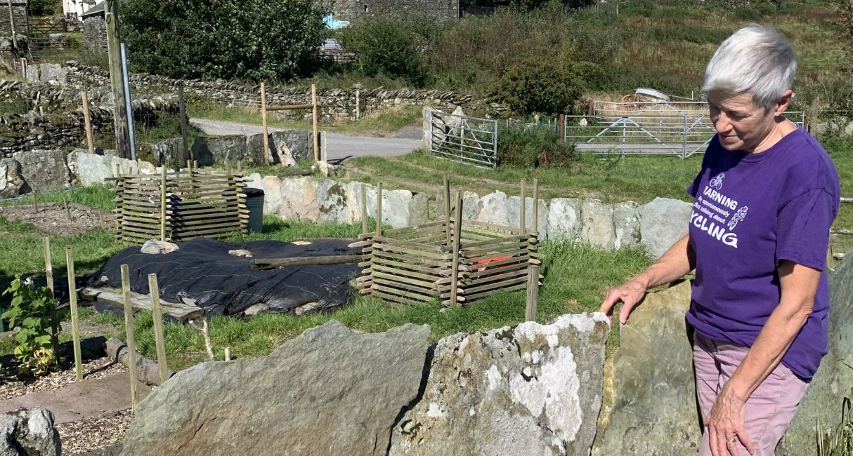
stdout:
<svg viewBox="0 0 853 456">
<path fill-rule="evenodd" d="M 585 116 L 565 117 L 564 139 L 573 142 L 579 151 L 673 154 L 686 159 L 694 153 L 704 153 L 717 133 L 708 104 L 700 101 L 595 101 L 591 111 Z M 803 112 L 785 115 L 803 126 Z"/>
</svg>

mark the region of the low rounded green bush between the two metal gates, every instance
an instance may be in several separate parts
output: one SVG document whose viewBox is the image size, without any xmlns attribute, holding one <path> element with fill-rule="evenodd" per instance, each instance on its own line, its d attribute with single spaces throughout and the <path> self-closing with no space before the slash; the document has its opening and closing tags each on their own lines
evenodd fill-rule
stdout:
<svg viewBox="0 0 853 456">
<path fill-rule="evenodd" d="M 560 141 L 556 131 L 542 125 L 498 128 L 497 160 L 517 168 L 566 168 L 577 161 L 575 147 Z"/>
</svg>

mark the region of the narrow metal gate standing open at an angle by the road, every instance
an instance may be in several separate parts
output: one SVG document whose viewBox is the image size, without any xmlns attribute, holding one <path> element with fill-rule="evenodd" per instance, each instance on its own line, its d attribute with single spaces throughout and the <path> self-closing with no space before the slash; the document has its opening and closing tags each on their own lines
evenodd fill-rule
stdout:
<svg viewBox="0 0 853 456">
<path fill-rule="evenodd" d="M 430 155 L 497 167 L 497 121 L 432 111 Z"/>
</svg>

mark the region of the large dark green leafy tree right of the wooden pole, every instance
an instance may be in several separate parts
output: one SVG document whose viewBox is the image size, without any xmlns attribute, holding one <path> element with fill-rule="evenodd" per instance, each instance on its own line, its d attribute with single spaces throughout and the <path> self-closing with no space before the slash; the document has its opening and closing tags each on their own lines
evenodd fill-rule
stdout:
<svg viewBox="0 0 853 456">
<path fill-rule="evenodd" d="M 322 15 L 313 0 L 127 0 L 119 9 L 131 65 L 173 78 L 309 75 Z"/>
</svg>

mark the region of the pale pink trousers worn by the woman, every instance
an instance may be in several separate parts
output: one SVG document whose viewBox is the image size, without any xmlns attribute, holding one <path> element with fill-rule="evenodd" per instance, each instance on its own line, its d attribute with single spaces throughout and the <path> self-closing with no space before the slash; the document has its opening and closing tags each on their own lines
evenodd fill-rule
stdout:
<svg viewBox="0 0 853 456">
<path fill-rule="evenodd" d="M 696 369 L 696 395 L 702 419 L 711 413 L 722 385 L 740 366 L 749 347 L 705 338 L 698 332 L 693 335 L 693 366 Z M 773 456 L 776 444 L 785 434 L 800 399 L 809 384 L 800 380 L 791 369 L 777 366 L 746 401 L 746 434 L 755 447 L 756 456 Z M 702 433 L 699 456 L 711 455 L 708 429 Z M 738 440 L 735 444 L 740 456 L 748 456 L 746 447 Z"/>
</svg>

